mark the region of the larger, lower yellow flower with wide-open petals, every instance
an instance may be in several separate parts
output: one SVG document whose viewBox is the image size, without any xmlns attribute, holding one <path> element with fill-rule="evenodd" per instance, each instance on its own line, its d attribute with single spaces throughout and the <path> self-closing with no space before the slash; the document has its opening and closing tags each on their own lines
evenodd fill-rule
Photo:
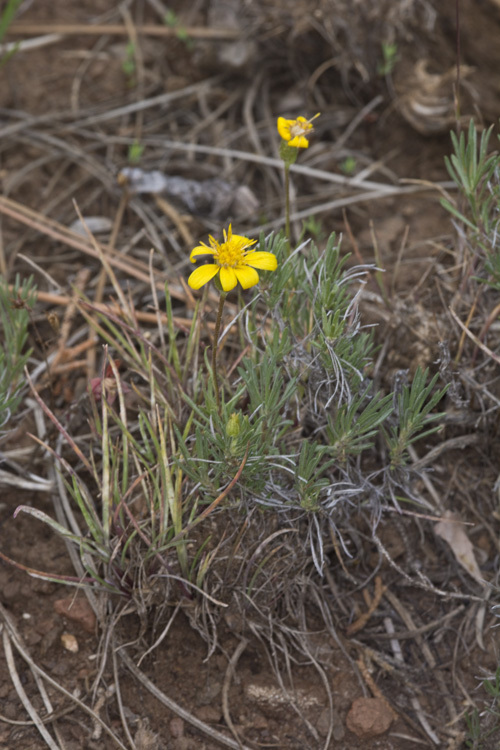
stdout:
<svg viewBox="0 0 500 750">
<path fill-rule="evenodd" d="M 225 292 L 234 289 L 238 281 L 243 289 L 249 289 L 259 281 L 259 274 L 255 270 L 275 271 L 278 267 L 276 256 L 272 253 L 256 252 L 252 250 L 257 240 L 249 240 L 239 234 L 233 234 L 231 224 L 223 230 L 224 242 L 217 242 L 209 235 L 210 247 L 203 242 L 191 251 L 191 262 L 195 263 L 197 255 L 213 255 L 214 263 L 207 263 L 193 271 L 188 279 L 191 289 L 199 289 L 207 284 L 218 273 L 220 283 Z"/>
</svg>

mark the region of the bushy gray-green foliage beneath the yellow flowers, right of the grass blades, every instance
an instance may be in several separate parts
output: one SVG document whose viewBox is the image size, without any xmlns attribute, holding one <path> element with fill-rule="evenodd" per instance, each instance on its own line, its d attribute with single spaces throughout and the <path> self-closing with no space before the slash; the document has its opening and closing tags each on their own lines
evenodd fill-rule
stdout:
<svg viewBox="0 0 500 750">
<path fill-rule="evenodd" d="M 321 568 L 323 521 L 337 527 L 349 508 L 379 498 L 386 486 L 411 492 L 408 447 L 438 428 L 435 408 L 446 389 L 420 369 L 397 394 L 371 381 L 373 332 L 357 309 L 367 269 L 348 266 L 335 236 L 323 252 L 305 243 L 286 257 L 279 236 L 261 238 L 258 249 L 280 262 L 238 317 L 249 353 L 226 379 L 220 415 L 211 379 L 196 403 L 189 400 L 193 431 L 177 431 L 178 460 L 209 503 L 247 453 L 237 485 L 243 507 L 309 519 Z"/>
</svg>

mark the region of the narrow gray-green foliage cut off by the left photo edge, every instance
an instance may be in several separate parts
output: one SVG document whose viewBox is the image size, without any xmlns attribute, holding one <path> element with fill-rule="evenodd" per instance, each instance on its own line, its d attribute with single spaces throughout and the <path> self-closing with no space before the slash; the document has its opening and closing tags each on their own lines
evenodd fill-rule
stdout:
<svg viewBox="0 0 500 750">
<path fill-rule="evenodd" d="M 29 313 L 34 296 L 33 279 L 21 284 L 16 277 L 12 290 L 0 279 L 0 428 L 16 412 L 21 401 L 23 369 L 30 352 L 26 350 Z"/>
</svg>

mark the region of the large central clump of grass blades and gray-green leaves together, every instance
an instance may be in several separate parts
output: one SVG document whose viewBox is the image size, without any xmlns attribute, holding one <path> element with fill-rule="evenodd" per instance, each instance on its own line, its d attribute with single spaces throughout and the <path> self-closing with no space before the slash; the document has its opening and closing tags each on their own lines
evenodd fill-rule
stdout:
<svg viewBox="0 0 500 750">
<path fill-rule="evenodd" d="M 144 592 L 157 601 L 165 588 L 170 598 L 201 591 L 212 601 L 217 565 L 236 554 L 221 548 L 239 544 L 236 530 L 250 519 L 259 544 L 276 523 L 298 534 L 282 572 L 313 565 L 321 575 L 327 541 L 345 546 L 353 514 L 364 509 L 375 523 L 382 497 L 411 497 L 406 451 L 437 429 L 445 389 L 420 370 L 398 394 L 377 389 L 373 336 L 357 309 L 367 269 L 348 267 L 335 236 L 323 251 L 306 242 L 288 255 L 276 235 L 255 252 L 276 257 L 277 268 L 246 304 L 231 300 L 217 381 L 209 349 L 195 356 L 200 306 L 189 331 L 181 337 L 168 325 L 156 346 L 132 309 L 119 325 L 81 303 L 106 342 L 88 394 L 92 452 L 84 455 L 50 413 L 66 523 L 22 509 L 78 549 L 81 577 L 60 580 L 135 599 L 143 611 Z M 253 566 L 266 574 L 253 552 L 241 555 L 245 579 Z"/>
</svg>

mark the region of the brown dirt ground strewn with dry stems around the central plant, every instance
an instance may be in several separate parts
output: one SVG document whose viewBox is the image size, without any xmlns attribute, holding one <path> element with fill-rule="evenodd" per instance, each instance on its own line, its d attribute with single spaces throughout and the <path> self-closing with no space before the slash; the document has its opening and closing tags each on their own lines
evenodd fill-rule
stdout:
<svg viewBox="0 0 500 750">
<path fill-rule="evenodd" d="M 435 369 L 439 342 L 448 341 L 454 350 L 459 338 L 446 312 L 457 239 L 439 203 L 443 191 L 453 194 L 444 156 L 451 150 L 449 130 L 455 119 L 456 19 L 454 4 L 446 9 L 442 5 L 392 3 L 389 13 L 384 3 L 377 11 L 376 2 L 365 3 L 363 9 L 359 3 L 335 0 L 317 0 L 307 8 L 301 1 L 242 0 L 229 6 L 208 0 L 172 2 L 169 8 L 182 27 L 161 36 L 141 32 L 143 25 L 166 28 L 161 22 L 165 8 L 158 0 L 23 3 L 16 23 L 25 27 L 14 27 L 7 41 L 44 36 L 49 27 L 65 26 L 44 46 L 21 47 L 0 71 L 5 271 L 12 280 L 15 273 L 32 273 L 30 261 L 36 263 L 38 288 L 47 296 L 34 310 L 35 352 L 41 351 L 40 338 L 47 356 L 54 348 L 46 313 L 62 319 L 64 307 L 56 297 L 69 295 L 70 285 L 86 270 L 86 291 L 95 290 L 97 260 L 59 233 L 61 226 L 71 227 L 77 219 L 74 201 L 84 216 L 105 222 L 101 239 L 109 241 L 116 230 L 115 247 L 143 268 L 154 245 L 158 271 L 169 279 L 187 278 L 190 238 L 198 242 L 226 222 L 227 203 L 214 208 L 193 199 L 190 208 L 175 201 L 165 207 L 153 196 L 140 194 L 123 205 L 117 175 L 128 163 L 131 143 L 144 145 L 140 166 L 145 170 L 198 180 L 221 177 L 246 186 L 251 197 L 244 194 L 242 205 L 231 203 L 231 212 L 241 231 L 250 234 L 262 226 L 280 225 L 281 172 L 276 165 L 245 160 L 235 152 L 276 158 L 276 116 L 320 111 L 314 143 L 301 154 L 300 164 L 346 179 L 352 176 L 350 170 L 362 172 L 365 181 L 394 189 L 382 194 L 373 187 L 372 194 L 363 197 L 367 188 L 297 172 L 292 209 L 299 218 L 292 222 L 294 231 L 298 236 L 301 216 L 307 218 L 316 206 L 328 204 L 314 214 L 315 223 L 309 223 L 319 238 L 341 233 L 345 252 L 364 262 L 374 261 L 376 245 L 393 309 L 388 313 L 374 301 L 373 280 L 361 309 L 366 322 L 377 325 L 381 382 L 390 388 L 399 370 L 414 372 L 419 364 Z M 498 124 L 500 7 L 495 0 L 464 0 L 460 13 L 464 121 L 474 116 L 485 125 Z M 119 28 L 111 33 L 92 29 L 105 24 Z M 386 39 L 397 42 L 397 59 L 384 75 L 377 65 Z M 129 40 L 135 42 L 133 54 Z M 353 200 L 342 205 L 349 196 Z M 40 225 L 40 217 L 52 223 Z M 146 310 L 143 281 L 134 283 Z M 174 313 L 182 315 L 180 281 L 177 288 Z M 82 321 L 74 321 L 72 331 L 81 326 Z M 75 335 L 72 345 L 79 340 Z M 74 370 L 61 368 L 51 383 L 52 394 L 47 387 L 43 394 L 53 400 L 58 414 L 71 411 L 76 421 L 83 419 L 79 399 L 95 374 L 87 365 L 84 360 Z M 497 377 L 494 373 L 492 382 Z M 451 414 L 453 404 L 448 408 Z M 476 430 L 480 438 L 473 442 Z M 17 462 L 26 471 L 43 473 L 40 451 L 27 435 L 33 431 L 36 425 L 26 407 L 2 449 L 19 449 Z M 482 575 L 494 584 L 499 554 L 497 425 L 478 426 L 477 412 L 470 406 L 457 411 L 456 420 L 450 416 L 439 439 L 461 436 L 466 436 L 465 447 L 446 451 L 430 476 L 443 509 L 471 524 L 469 536 Z M 436 444 L 435 439 L 417 443 L 417 459 Z M 424 496 L 430 491 L 428 482 L 428 477 L 419 480 Z M 20 504 L 54 512 L 50 492 L 2 487 L 3 554 L 37 570 L 74 574 L 64 543 L 45 524 L 26 515 L 13 517 Z M 55 714 L 45 726 L 53 746 L 61 750 L 115 748 L 120 746 L 116 738 L 122 747 L 139 750 L 224 746 L 220 736 L 210 737 L 194 726 L 192 717 L 235 748 L 472 747 L 466 744 L 464 714 L 488 704 L 480 681 L 498 665 L 498 630 L 491 611 L 498 595 L 457 565 L 424 516 L 425 511 L 419 519 L 383 520 L 380 536 L 397 568 L 381 558 L 360 521 L 363 554 L 357 563 L 347 570 L 332 551 L 323 580 L 316 579 L 311 589 L 307 581 L 297 583 L 297 595 L 310 596 L 310 614 L 301 624 L 290 619 L 286 647 L 279 638 L 266 640 L 251 618 L 242 629 L 231 607 L 220 613 L 216 643 L 207 642 L 195 627 L 191 603 L 172 604 L 168 611 L 174 616 L 167 629 L 168 618 L 150 613 L 152 621 L 144 626 L 137 613 L 125 609 L 116 624 L 116 641 L 103 643 L 91 616 L 90 623 L 82 616 L 75 620 L 63 604 L 56 604 L 73 589 L 2 564 L 0 748 L 50 747 L 33 725 L 27 703 L 22 704 L 21 691 L 42 716 L 52 705 Z M 350 574 L 367 581 L 366 586 L 354 585 Z M 375 574 L 387 595 L 365 626 L 349 635 L 349 625 L 376 596 Z M 434 593 L 417 585 L 419 576 L 432 583 Z M 313 590 L 322 592 L 334 613 L 331 629 L 320 616 Z M 83 600 L 83 594 L 79 598 Z M 400 634 L 403 666 L 390 647 L 384 626 L 388 618 Z M 290 646 L 301 628 L 314 657 L 309 662 Z M 20 652 L 9 651 L 7 632 L 10 642 L 18 638 L 34 664 L 54 681 L 41 679 L 46 694 Z M 139 663 L 160 636 L 161 643 Z M 115 650 L 116 644 L 120 649 Z M 130 663 L 138 664 L 144 680 Z M 99 688 L 93 691 L 99 669 Z M 333 696 L 331 706 L 322 674 Z M 165 705 L 158 691 L 189 716 Z M 365 737 L 356 736 L 347 719 L 353 702 L 373 696 L 381 698 L 378 719 L 390 706 L 390 728 L 380 735 L 368 731 Z M 488 718 L 484 721 L 487 726 Z M 497 732 L 474 747 L 495 748 L 499 743 Z"/>
</svg>

